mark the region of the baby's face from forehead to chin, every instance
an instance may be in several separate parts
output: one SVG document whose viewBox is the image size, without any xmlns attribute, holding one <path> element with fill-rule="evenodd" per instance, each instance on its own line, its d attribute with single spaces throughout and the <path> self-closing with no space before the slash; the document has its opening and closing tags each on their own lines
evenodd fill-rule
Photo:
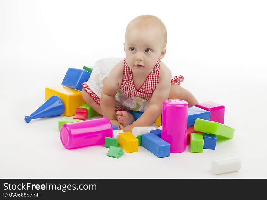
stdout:
<svg viewBox="0 0 267 200">
<path fill-rule="evenodd" d="M 124 43 L 127 65 L 133 71 L 150 72 L 164 47 L 164 37 L 160 31 L 129 28 Z"/>
</svg>

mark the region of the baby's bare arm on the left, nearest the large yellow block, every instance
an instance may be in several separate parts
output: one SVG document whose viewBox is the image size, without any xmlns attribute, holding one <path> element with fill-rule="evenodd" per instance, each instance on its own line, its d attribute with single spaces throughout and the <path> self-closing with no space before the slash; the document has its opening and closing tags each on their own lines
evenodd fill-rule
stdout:
<svg viewBox="0 0 267 200">
<path fill-rule="evenodd" d="M 107 79 L 101 92 L 100 107 L 103 117 L 108 118 L 113 125 L 120 127 L 120 122 L 117 120 L 115 111 L 115 95 L 119 89 L 119 83 L 123 76 L 123 61 L 115 65 Z"/>
</svg>

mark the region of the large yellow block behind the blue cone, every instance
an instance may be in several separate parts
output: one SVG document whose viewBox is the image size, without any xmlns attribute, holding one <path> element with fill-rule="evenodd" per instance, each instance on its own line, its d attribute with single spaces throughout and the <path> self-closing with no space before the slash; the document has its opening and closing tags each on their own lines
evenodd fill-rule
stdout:
<svg viewBox="0 0 267 200">
<path fill-rule="evenodd" d="M 46 87 L 45 100 L 48 100 L 53 95 L 58 96 L 63 101 L 65 106 L 63 115 L 67 117 L 75 115 L 76 108 L 85 104 L 81 91 L 66 86 Z"/>
</svg>

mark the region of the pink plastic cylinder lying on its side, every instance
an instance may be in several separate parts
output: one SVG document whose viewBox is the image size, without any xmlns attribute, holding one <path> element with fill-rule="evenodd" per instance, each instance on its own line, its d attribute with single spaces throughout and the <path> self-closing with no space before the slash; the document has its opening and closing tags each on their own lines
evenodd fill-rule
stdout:
<svg viewBox="0 0 267 200">
<path fill-rule="evenodd" d="M 103 145 L 105 137 L 113 137 L 113 128 L 107 118 L 77 121 L 60 128 L 60 140 L 66 149 Z"/>
</svg>

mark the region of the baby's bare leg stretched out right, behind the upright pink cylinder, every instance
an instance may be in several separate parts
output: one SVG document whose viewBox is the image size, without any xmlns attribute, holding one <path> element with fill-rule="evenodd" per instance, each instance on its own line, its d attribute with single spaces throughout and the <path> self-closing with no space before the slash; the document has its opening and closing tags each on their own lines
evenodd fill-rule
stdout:
<svg viewBox="0 0 267 200">
<path fill-rule="evenodd" d="M 188 90 L 182 88 L 181 86 L 171 83 L 171 90 L 169 94 L 169 99 L 181 99 L 188 103 L 188 107 L 198 104 L 197 99 Z"/>
</svg>

